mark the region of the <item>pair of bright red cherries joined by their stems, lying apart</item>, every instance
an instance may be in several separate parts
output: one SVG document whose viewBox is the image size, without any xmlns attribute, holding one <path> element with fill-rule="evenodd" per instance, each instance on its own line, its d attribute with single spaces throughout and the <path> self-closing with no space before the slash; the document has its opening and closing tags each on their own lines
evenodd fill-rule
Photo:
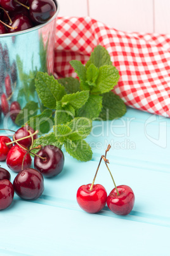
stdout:
<svg viewBox="0 0 170 256">
<path fill-rule="evenodd" d="M 77 203 L 82 210 L 87 211 L 88 213 L 97 213 L 98 211 L 101 211 L 107 203 L 108 208 L 115 214 L 128 215 L 134 206 L 134 193 L 127 185 L 116 187 L 112 173 L 107 165 L 109 163 L 108 159 L 106 159 L 107 152 L 110 148 L 111 146 L 108 145 L 107 150 L 105 151 L 105 156 L 101 155 L 93 182 L 88 185 L 82 185 L 77 190 Z M 105 165 L 110 172 L 115 186 L 108 196 L 107 191 L 102 185 L 94 184 L 102 159 L 105 161 Z"/>
</svg>

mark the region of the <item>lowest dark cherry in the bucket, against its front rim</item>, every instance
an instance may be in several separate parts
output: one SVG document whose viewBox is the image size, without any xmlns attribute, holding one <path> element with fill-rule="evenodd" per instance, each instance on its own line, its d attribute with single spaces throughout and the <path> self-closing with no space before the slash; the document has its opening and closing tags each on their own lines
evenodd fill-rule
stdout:
<svg viewBox="0 0 170 256">
<path fill-rule="evenodd" d="M 23 15 L 22 13 L 19 13 L 13 18 L 12 24 L 9 24 L 11 27 L 15 27 L 15 29 L 8 28 L 8 32 L 17 32 L 17 31 L 23 31 L 25 29 L 29 29 L 32 27 L 32 22 L 30 19 Z"/>
</svg>

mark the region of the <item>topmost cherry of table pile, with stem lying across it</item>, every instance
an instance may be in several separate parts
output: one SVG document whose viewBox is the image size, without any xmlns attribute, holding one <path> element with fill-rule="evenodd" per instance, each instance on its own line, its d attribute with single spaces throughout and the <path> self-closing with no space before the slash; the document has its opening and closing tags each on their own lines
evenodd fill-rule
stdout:
<svg viewBox="0 0 170 256">
<path fill-rule="evenodd" d="M 15 139 L 21 139 L 23 137 L 26 137 L 26 136 L 29 136 L 30 135 L 30 132 L 32 132 L 32 134 L 35 132 L 34 129 L 32 129 L 32 127 L 29 127 L 29 126 L 24 126 L 24 127 L 21 127 L 20 129 L 18 129 L 14 136 L 15 136 Z M 35 134 L 33 136 L 33 139 L 37 139 L 37 134 Z M 20 141 L 18 141 L 19 144 L 22 144 L 24 146 L 27 146 L 27 148 L 30 147 L 31 143 L 32 143 L 32 138 L 29 137 L 29 138 L 26 138 L 26 139 L 22 139 Z"/>
</svg>

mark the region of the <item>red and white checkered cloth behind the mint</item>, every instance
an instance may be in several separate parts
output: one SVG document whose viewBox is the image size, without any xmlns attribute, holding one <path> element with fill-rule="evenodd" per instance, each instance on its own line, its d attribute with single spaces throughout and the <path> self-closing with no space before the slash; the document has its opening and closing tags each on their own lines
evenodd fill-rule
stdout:
<svg viewBox="0 0 170 256">
<path fill-rule="evenodd" d="M 114 92 L 126 105 L 170 117 L 170 35 L 117 31 L 90 17 L 59 17 L 56 74 L 75 77 L 69 61 L 84 64 L 97 45 L 105 46 L 119 70 Z"/>
</svg>

